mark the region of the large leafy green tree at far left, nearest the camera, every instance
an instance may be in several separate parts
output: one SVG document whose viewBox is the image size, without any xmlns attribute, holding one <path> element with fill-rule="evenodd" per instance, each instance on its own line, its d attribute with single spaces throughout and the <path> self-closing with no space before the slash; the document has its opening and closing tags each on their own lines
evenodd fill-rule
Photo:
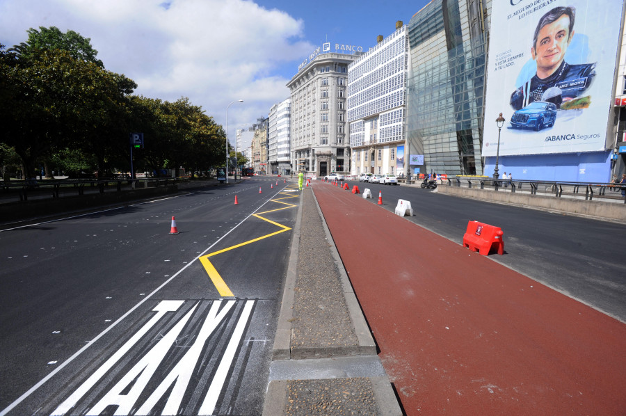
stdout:
<svg viewBox="0 0 626 416">
<path fill-rule="evenodd" d="M 0 141 L 15 148 L 31 177 L 42 159 L 65 147 L 96 154 L 104 168 L 111 130 L 136 84 L 67 51 L 0 59 Z M 8 101 L 5 102 L 5 98 Z"/>
</svg>

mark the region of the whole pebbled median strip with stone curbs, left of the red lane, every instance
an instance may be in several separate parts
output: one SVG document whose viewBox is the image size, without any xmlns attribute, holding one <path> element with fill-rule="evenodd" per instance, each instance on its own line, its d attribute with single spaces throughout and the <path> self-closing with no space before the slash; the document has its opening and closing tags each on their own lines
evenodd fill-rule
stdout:
<svg viewBox="0 0 626 416">
<path fill-rule="evenodd" d="M 311 187 L 294 227 L 263 414 L 402 414 Z"/>
</svg>

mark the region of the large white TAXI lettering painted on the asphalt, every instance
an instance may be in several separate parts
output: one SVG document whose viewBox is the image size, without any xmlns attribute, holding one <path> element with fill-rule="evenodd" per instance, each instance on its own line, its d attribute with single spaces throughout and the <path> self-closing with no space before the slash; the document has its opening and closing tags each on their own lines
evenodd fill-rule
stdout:
<svg viewBox="0 0 626 416">
<path fill-rule="evenodd" d="M 179 309 L 178 302 L 182 301 L 162 302 L 169 302 L 172 307 L 159 307 L 159 305 L 161 305 L 159 304 L 154 308 L 154 311 L 165 310 L 166 312 L 175 312 L 175 310 Z M 167 330 L 165 335 L 160 336 L 157 344 L 154 344 L 154 346 L 152 346 L 147 353 L 141 356 L 141 358 L 137 360 L 136 365 L 134 365 L 129 371 L 122 370 L 126 371 L 125 374 L 122 375 L 122 378 L 120 378 L 120 380 L 115 383 L 113 387 L 109 387 L 107 383 L 111 383 L 111 378 L 117 378 L 115 377 L 115 367 L 117 366 L 120 368 L 121 366 L 122 369 L 124 368 L 123 364 L 118 363 L 129 359 L 125 355 L 129 352 L 132 354 L 133 351 L 131 351 L 131 349 L 134 348 L 134 352 L 137 353 L 137 351 L 142 351 L 145 348 L 145 346 L 141 345 L 142 343 L 138 342 L 138 339 L 136 339 L 135 336 L 129 339 L 129 341 L 127 341 L 120 350 L 116 351 L 111 358 L 109 358 L 109 360 L 106 360 L 104 365 L 99 367 L 85 382 L 83 382 L 82 385 L 77 388 L 77 390 L 70 394 L 70 397 L 65 399 L 60 406 L 53 410 L 50 415 L 62 416 L 68 412 L 72 413 L 72 411 L 76 411 L 78 408 L 86 408 L 88 410 L 86 410 L 84 415 L 97 416 L 106 410 L 108 406 L 116 406 L 115 415 L 145 416 L 153 414 L 155 406 L 159 406 L 159 403 L 163 403 L 163 400 L 165 399 L 166 403 L 164 405 L 161 404 L 163 408 L 156 409 L 159 414 L 178 415 L 182 408 L 189 406 L 189 403 L 183 403 L 185 397 L 189 400 L 188 397 L 190 397 L 190 393 L 191 396 L 200 394 L 200 399 L 202 399 L 202 392 L 204 391 L 207 392 L 204 394 L 202 406 L 197 414 L 207 416 L 212 415 L 214 410 L 216 410 L 216 404 L 220 399 L 220 394 L 225 386 L 227 375 L 229 374 L 236 358 L 237 349 L 241 343 L 243 332 L 250 323 L 252 308 L 254 307 L 255 302 L 255 300 L 251 299 L 239 301 L 234 299 L 220 299 L 217 301 L 211 301 L 211 308 L 208 314 L 204 317 L 202 328 L 197 334 L 191 335 L 195 338 L 193 345 L 185 346 L 186 352 L 182 358 L 172 358 L 172 355 L 168 356 L 168 353 L 170 353 L 174 344 L 179 342 L 182 330 L 186 328 L 195 312 L 198 312 L 198 305 L 202 303 L 202 301 L 194 301 L 193 307 L 184 313 L 184 317 L 176 321 L 174 326 Z M 243 307 L 238 308 L 241 310 L 239 313 L 234 312 L 234 306 L 237 303 L 240 303 L 240 305 L 243 303 Z M 200 312 L 200 314 L 203 315 L 204 312 Z M 160 314 L 159 317 L 163 318 L 163 314 Z M 167 318 L 165 321 L 168 321 L 169 319 L 170 318 Z M 207 381 L 209 388 L 208 390 L 205 390 L 204 384 L 198 382 L 198 374 L 199 371 L 200 374 L 202 372 L 209 373 L 212 366 L 207 365 L 204 366 L 204 369 L 200 370 L 198 368 L 200 356 L 205 351 L 205 348 L 207 347 L 207 340 L 211 337 L 211 334 L 216 331 L 218 326 L 222 325 L 222 323 L 227 323 L 229 320 L 233 322 L 234 328 L 232 331 L 229 331 L 230 335 L 227 335 L 227 346 L 223 349 L 223 353 L 220 353 L 220 351 L 217 351 L 216 353 L 216 355 L 220 357 L 218 358 L 219 361 L 215 363 L 217 369 L 214 376 Z M 234 323 L 234 321 L 236 321 L 236 323 Z M 145 335 L 148 330 L 153 327 L 154 318 L 146 323 L 139 332 L 141 332 L 141 335 Z M 187 334 L 182 338 L 185 339 L 187 337 L 190 337 L 190 335 Z M 152 339 L 152 336 L 149 338 Z M 146 339 L 143 339 L 143 343 L 145 342 Z M 150 340 L 147 342 L 150 343 Z M 173 367 L 171 367 L 170 370 L 168 370 L 168 374 L 162 377 L 160 381 L 158 379 L 159 376 L 156 376 L 156 381 L 159 385 L 152 391 L 150 397 L 144 399 L 143 404 L 138 402 L 141 397 L 145 398 L 147 393 L 145 390 L 148 383 L 155 378 L 154 374 L 157 369 L 162 367 L 164 362 L 172 359 L 178 361 Z M 202 378 L 202 376 L 200 378 Z M 109 380 L 107 381 L 107 379 Z M 104 390 L 97 393 L 97 396 L 94 398 L 94 392 L 97 392 L 102 388 L 104 388 Z M 98 397 L 100 398 L 98 399 Z M 93 404 L 93 401 L 96 400 L 97 403 L 89 408 L 89 406 Z M 140 405 L 141 407 L 137 409 Z M 83 413 L 81 412 L 81 414 Z"/>
</svg>

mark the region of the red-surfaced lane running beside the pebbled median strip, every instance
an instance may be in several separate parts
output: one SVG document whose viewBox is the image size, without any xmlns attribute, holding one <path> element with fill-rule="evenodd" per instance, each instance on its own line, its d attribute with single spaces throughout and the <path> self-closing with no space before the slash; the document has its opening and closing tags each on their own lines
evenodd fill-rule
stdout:
<svg viewBox="0 0 626 416">
<path fill-rule="evenodd" d="M 408 415 L 626 414 L 624 323 L 361 195 L 313 191 Z"/>
</svg>

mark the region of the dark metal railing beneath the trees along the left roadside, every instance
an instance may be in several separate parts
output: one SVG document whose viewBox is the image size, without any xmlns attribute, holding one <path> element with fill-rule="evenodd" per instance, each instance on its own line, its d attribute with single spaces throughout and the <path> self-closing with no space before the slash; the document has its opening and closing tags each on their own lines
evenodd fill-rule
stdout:
<svg viewBox="0 0 626 416">
<path fill-rule="evenodd" d="M 145 178 L 145 179 L 34 179 L 0 182 L 0 198 L 4 202 L 27 201 L 30 198 L 58 199 L 63 195 L 85 195 L 87 193 L 116 192 L 122 190 L 167 186 L 181 182 L 177 178 Z"/>
</svg>

